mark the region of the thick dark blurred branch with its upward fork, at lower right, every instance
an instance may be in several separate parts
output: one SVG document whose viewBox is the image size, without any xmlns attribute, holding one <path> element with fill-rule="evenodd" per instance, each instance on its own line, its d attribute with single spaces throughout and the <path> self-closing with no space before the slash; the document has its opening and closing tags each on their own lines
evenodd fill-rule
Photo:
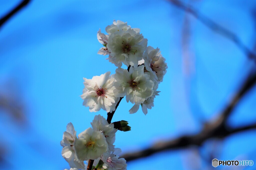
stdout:
<svg viewBox="0 0 256 170">
<path fill-rule="evenodd" d="M 239 89 L 239 91 L 236 93 L 234 98 L 231 100 L 231 102 L 228 104 L 228 106 L 222 111 L 218 119 L 216 119 L 213 122 L 206 123 L 204 125 L 204 128 L 202 131 L 196 135 L 186 135 L 183 137 L 179 137 L 174 140 L 165 141 L 161 143 L 156 143 L 150 148 L 132 152 L 132 153 L 126 153 L 122 155 L 122 158 L 125 158 L 126 161 L 131 161 L 134 159 L 146 157 L 149 155 L 152 155 L 154 153 L 168 150 L 168 149 L 181 149 L 185 148 L 191 145 L 200 146 L 204 141 L 210 138 L 224 138 L 228 135 L 231 135 L 233 133 L 237 133 L 243 130 L 248 129 L 255 129 L 256 124 L 239 127 L 236 129 L 230 129 L 226 125 L 226 121 L 230 113 L 233 111 L 234 107 L 237 105 L 237 103 L 241 100 L 241 98 L 248 93 L 248 91 L 256 84 L 256 72 L 253 74 L 250 74 L 242 87 Z"/>
</svg>

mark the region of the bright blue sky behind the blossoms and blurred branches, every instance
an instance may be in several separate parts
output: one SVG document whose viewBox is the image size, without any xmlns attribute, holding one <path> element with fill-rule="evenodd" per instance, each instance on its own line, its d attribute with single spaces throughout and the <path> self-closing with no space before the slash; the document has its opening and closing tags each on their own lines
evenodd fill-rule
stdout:
<svg viewBox="0 0 256 170">
<path fill-rule="evenodd" d="M 0 16 L 19 1 L 0 1 Z M 201 14 L 233 31 L 253 49 L 255 2 L 189 1 Z M 189 57 L 182 51 L 184 19 L 190 24 Z M 113 20 L 140 28 L 148 45 L 158 47 L 168 64 L 160 95 L 145 116 L 141 109 L 123 100 L 113 121 L 126 120 L 132 130 L 116 133 L 116 147 L 123 152 L 151 146 L 154 142 L 194 134 L 202 121 L 214 119 L 227 105 L 241 82 L 255 67 L 230 40 L 216 34 L 196 18 L 167 1 L 31 1 L 0 30 L 1 94 L 25 106 L 27 126 L 20 127 L 10 116 L 1 114 L 1 139 L 8 151 L 7 169 L 64 169 L 60 141 L 72 122 L 77 133 L 90 127 L 101 110 L 90 113 L 80 98 L 83 77 L 91 79 L 114 64 L 98 55 L 102 32 Z M 232 127 L 256 121 L 256 88 L 247 94 L 229 118 Z M 209 140 L 199 150 L 189 148 L 162 152 L 128 163 L 128 169 L 204 169 L 209 148 L 217 143 L 216 156 L 256 161 L 255 130 L 232 135 L 223 141 Z M 244 157 L 243 157 L 244 156 Z M 207 157 L 207 156 L 206 156 Z M 190 162 L 193 158 L 193 164 Z M 192 164 L 195 166 L 192 166 Z M 250 167 L 248 167 L 249 169 Z M 252 168 L 252 167 L 251 167 Z"/>
</svg>

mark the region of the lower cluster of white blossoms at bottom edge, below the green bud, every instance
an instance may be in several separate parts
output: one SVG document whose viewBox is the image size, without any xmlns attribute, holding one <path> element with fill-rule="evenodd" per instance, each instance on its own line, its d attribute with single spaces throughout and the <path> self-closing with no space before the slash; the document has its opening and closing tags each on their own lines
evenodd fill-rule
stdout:
<svg viewBox="0 0 256 170">
<path fill-rule="evenodd" d="M 92 159 L 95 160 L 94 164 L 99 160 L 103 161 L 104 164 L 98 169 L 126 169 L 126 161 L 118 156 L 121 149 L 113 145 L 118 129 L 101 115 L 96 115 L 91 125 L 92 128 L 84 130 L 78 137 L 73 124 L 67 125 L 60 144 L 63 147 L 61 154 L 69 166 L 73 169 L 85 169 L 84 161 Z"/>
</svg>

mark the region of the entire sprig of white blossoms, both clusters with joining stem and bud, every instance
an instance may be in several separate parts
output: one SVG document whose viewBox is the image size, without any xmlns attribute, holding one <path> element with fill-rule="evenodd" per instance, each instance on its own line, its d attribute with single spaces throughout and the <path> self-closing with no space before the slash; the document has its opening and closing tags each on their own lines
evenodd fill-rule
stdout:
<svg viewBox="0 0 256 170">
<path fill-rule="evenodd" d="M 112 75 L 106 72 L 92 79 L 84 78 L 83 105 L 89 107 L 90 112 L 103 109 L 109 114 L 114 113 L 120 100 L 126 97 L 127 102 L 134 104 L 130 113 L 136 113 L 141 106 L 146 115 L 159 95 L 157 88 L 167 69 L 165 58 L 159 48 L 147 47 L 147 39 L 140 34 L 140 29 L 131 28 L 127 22 L 114 20 L 106 27 L 106 32 L 99 30 L 97 33 L 98 41 L 103 45 L 98 54 L 109 55 L 109 62 L 118 68 Z M 128 68 L 121 68 L 122 64 Z M 115 126 L 116 122 L 110 123 L 111 119 L 107 121 L 101 115 L 95 116 L 92 128 L 84 130 L 78 137 L 72 123 L 67 125 L 61 146 L 62 156 L 71 169 L 85 169 L 84 161 L 89 163 L 89 160 L 94 160 L 93 168 L 98 170 L 126 169 L 125 159 L 119 158 L 121 149 L 113 144 L 116 131 L 130 130 L 130 126 L 127 121 L 119 121 L 122 125 Z"/>
</svg>

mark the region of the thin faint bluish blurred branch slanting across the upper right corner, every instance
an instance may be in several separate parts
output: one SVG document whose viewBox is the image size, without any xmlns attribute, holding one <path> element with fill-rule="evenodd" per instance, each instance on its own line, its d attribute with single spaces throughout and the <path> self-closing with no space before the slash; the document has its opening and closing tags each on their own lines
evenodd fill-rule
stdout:
<svg viewBox="0 0 256 170">
<path fill-rule="evenodd" d="M 247 48 L 242 41 L 238 38 L 236 34 L 229 31 L 228 29 L 222 27 L 221 25 L 217 24 L 216 22 L 212 21 L 211 19 L 205 17 L 204 15 L 200 14 L 196 11 L 193 7 L 185 5 L 183 2 L 179 0 L 169 0 L 173 5 L 185 10 L 189 14 L 196 17 L 199 21 L 205 24 L 211 30 L 225 36 L 229 40 L 233 41 L 245 54 L 248 56 L 249 59 L 254 60 L 256 62 L 256 55 Z"/>
</svg>

